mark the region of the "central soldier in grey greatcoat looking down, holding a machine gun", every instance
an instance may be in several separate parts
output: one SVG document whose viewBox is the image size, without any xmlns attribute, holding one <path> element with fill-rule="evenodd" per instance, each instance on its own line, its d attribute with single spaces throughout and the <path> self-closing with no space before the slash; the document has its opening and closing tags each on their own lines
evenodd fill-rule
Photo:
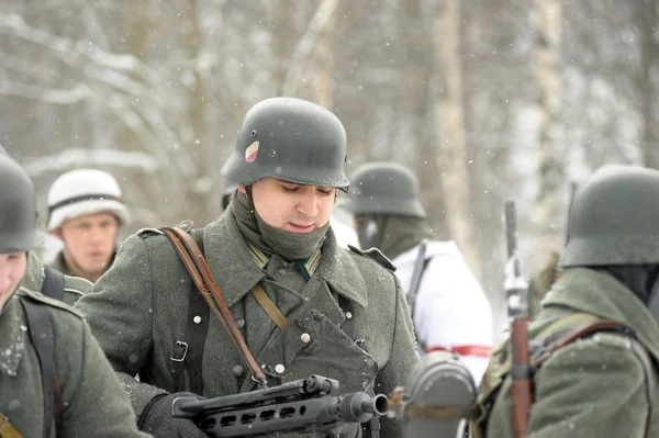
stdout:
<svg viewBox="0 0 659 438">
<path fill-rule="evenodd" d="M 393 267 L 378 251 L 340 249 L 328 224 L 336 190 L 348 188 L 346 143 L 339 120 L 316 104 L 257 103 L 222 168 L 237 184 L 233 201 L 219 221 L 192 231 L 270 385 L 321 374 L 338 380 L 342 392 L 389 393 L 417 361 Z M 191 420 L 171 416 L 181 392 L 213 397 L 255 389 L 219 318 L 204 305 L 193 311 L 198 295 L 167 236 L 147 229 L 124 243 L 77 304 L 143 430 L 157 437 L 202 436 Z M 201 342 L 181 338 L 191 326 Z M 142 383 L 133 379 L 138 371 Z M 400 436 L 395 422 L 380 426 L 382 438 Z M 362 430 L 353 425 L 342 436 Z"/>
</svg>

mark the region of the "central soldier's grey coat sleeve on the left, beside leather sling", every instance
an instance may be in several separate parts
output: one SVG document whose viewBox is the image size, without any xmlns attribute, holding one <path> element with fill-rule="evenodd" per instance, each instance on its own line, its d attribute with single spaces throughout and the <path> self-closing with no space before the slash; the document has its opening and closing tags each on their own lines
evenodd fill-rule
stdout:
<svg viewBox="0 0 659 438">
<path fill-rule="evenodd" d="M 134 379 L 152 349 L 152 276 L 145 242 L 132 236 L 92 292 L 76 303 L 118 372 L 137 417 L 155 396 L 167 393 Z"/>
</svg>

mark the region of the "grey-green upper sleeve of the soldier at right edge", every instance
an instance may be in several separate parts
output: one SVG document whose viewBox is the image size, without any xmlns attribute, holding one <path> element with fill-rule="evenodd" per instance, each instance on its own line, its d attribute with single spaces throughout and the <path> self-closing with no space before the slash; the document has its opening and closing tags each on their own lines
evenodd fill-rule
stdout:
<svg viewBox="0 0 659 438">
<path fill-rule="evenodd" d="M 601 333 L 563 347 L 535 383 L 529 438 L 644 436 L 645 374 L 625 337 Z"/>
</svg>

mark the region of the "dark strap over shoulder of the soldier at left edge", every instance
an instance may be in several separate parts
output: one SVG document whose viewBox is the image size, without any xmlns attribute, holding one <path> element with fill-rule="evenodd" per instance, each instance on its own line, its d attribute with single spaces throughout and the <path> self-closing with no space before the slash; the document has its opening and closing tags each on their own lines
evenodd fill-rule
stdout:
<svg viewBox="0 0 659 438">
<path fill-rule="evenodd" d="M 51 438 L 53 420 L 55 420 L 56 436 L 62 430 L 64 416 L 64 397 L 55 366 L 55 332 L 53 329 L 53 317 L 48 307 L 36 303 L 29 297 L 21 296 L 20 300 L 30 339 L 36 351 L 42 374 L 42 386 L 44 394 L 44 438 Z"/>
</svg>

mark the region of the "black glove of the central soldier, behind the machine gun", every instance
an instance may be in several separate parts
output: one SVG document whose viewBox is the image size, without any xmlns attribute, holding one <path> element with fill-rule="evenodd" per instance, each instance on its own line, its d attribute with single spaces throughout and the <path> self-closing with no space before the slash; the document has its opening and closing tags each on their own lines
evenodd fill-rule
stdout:
<svg viewBox="0 0 659 438">
<path fill-rule="evenodd" d="M 139 417 L 139 429 L 156 438 L 208 438 L 191 419 L 171 415 L 171 403 L 177 397 L 196 396 L 190 392 L 158 395 Z"/>
</svg>

